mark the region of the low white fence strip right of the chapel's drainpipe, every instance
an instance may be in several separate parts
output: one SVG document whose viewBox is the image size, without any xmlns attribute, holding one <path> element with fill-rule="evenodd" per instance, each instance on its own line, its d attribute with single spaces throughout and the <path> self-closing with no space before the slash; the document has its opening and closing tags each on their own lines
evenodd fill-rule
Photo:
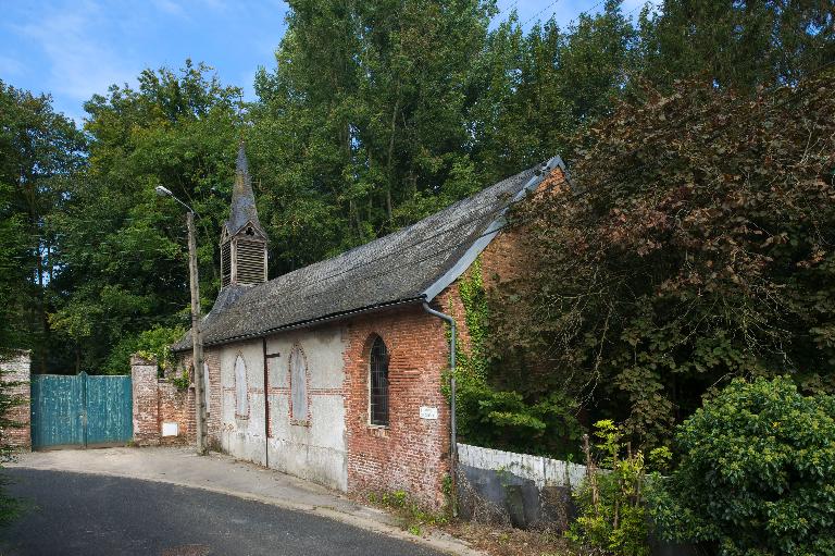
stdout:
<svg viewBox="0 0 835 556">
<path fill-rule="evenodd" d="M 534 481 L 538 489 L 544 486 L 576 486 L 586 477 L 586 466 L 578 464 L 528 454 L 482 448 L 469 444 L 458 445 L 458 462 L 476 469 L 507 471 Z"/>
</svg>

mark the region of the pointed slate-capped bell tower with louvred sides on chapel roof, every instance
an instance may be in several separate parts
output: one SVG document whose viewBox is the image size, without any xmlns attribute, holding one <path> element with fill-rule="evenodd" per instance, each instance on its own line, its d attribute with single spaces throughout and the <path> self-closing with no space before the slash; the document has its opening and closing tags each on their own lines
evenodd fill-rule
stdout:
<svg viewBox="0 0 835 556">
<path fill-rule="evenodd" d="M 266 282 L 266 232 L 258 221 L 244 141 L 238 146 L 229 220 L 221 231 L 221 289 Z"/>
</svg>

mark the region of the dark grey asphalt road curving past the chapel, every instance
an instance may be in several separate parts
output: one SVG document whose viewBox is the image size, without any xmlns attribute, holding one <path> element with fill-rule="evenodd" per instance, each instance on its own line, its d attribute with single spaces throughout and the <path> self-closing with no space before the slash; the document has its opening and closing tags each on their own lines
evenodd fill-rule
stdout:
<svg viewBox="0 0 835 556">
<path fill-rule="evenodd" d="M 259 502 L 170 484 L 4 469 L 29 506 L 0 530 L 11 555 L 440 556 L 407 541 Z"/>
</svg>

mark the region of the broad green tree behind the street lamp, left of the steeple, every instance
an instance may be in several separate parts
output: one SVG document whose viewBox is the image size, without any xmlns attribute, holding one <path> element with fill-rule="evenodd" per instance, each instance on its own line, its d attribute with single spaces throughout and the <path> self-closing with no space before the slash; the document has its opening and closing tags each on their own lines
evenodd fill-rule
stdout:
<svg viewBox="0 0 835 556">
<path fill-rule="evenodd" d="M 136 90 L 113 86 L 85 106 L 89 165 L 53 217 L 62 232 L 53 280 L 64 299 L 51 323 L 73 347 L 76 369 L 126 371 L 142 331 L 186 321 L 184 209 L 158 198 L 155 186 L 198 212 L 201 292 L 216 293 L 239 96 L 187 61 L 178 73 L 146 70 Z"/>
</svg>

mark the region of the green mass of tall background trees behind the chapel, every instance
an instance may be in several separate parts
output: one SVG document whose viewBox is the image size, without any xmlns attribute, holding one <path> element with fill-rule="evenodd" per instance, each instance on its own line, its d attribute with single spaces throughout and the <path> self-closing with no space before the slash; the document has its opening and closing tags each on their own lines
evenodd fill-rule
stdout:
<svg viewBox="0 0 835 556">
<path fill-rule="evenodd" d="M 253 102 L 186 62 L 96 95 L 78 131 L 48 97 L 3 85 L 0 334 L 14 337 L 2 342 L 33 348 L 36 371 L 114 372 L 142 331 L 186 325 L 180 209 L 151 191 L 200 213 L 210 305 L 241 136 L 275 276 L 554 153 L 573 160 L 584 145 L 571 137 L 620 99 L 643 101 L 641 85 L 796 84 L 832 60 L 832 13 L 781 5 L 668 0 L 636 22 L 612 0 L 523 29 L 493 0 L 295 0 Z"/>
</svg>

